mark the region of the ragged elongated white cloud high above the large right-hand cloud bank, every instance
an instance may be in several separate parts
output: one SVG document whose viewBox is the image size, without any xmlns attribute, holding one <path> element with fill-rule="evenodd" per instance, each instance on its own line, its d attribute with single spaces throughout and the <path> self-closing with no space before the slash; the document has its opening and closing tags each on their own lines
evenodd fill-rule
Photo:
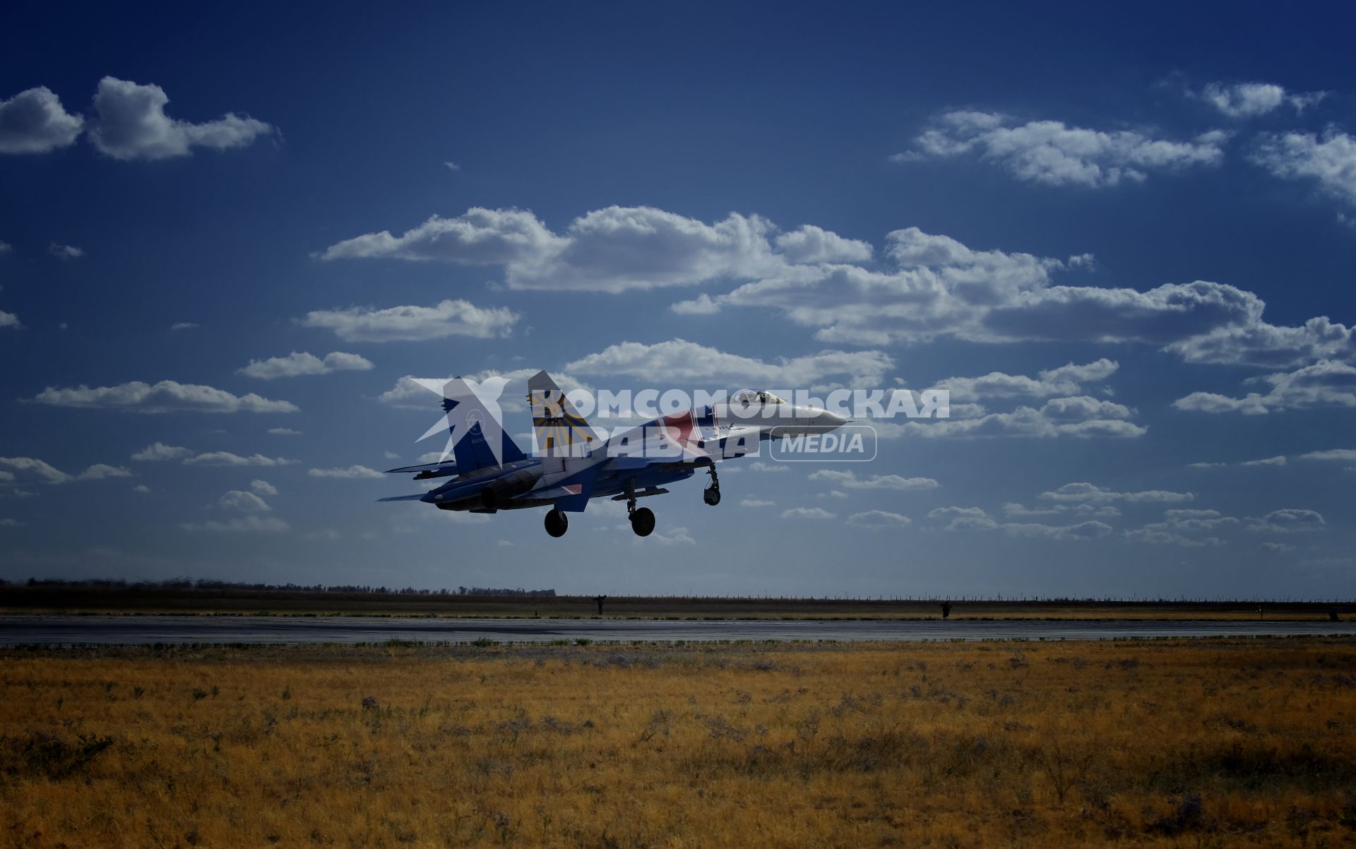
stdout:
<svg viewBox="0 0 1356 849">
<path fill-rule="evenodd" d="M 1116 186 L 1140 182 L 1150 171 L 1180 171 L 1216 165 L 1223 159 L 1223 133 L 1192 141 L 1154 138 L 1132 130 L 1090 130 L 1059 121 L 1014 125 L 997 113 L 953 111 L 937 117 L 914 148 L 895 161 L 978 153 L 1020 180 L 1047 186 Z"/>
</svg>

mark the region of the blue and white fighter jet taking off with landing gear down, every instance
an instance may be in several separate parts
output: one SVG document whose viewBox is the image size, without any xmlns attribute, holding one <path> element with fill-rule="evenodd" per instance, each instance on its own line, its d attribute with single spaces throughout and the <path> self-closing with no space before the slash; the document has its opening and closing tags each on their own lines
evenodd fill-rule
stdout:
<svg viewBox="0 0 1356 849">
<path fill-rule="evenodd" d="M 471 513 L 551 507 L 545 524 L 553 537 L 564 536 L 570 528 L 567 514 L 582 513 L 593 498 L 625 500 L 631 529 L 647 537 L 655 529 L 655 514 L 648 507 L 637 509 L 636 499 L 663 495 L 669 492 L 664 484 L 705 468 L 711 486 L 702 499 L 719 505 L 716 462 L 751 453 L 759 439 L 822 434 L 846 423 L 827 410 L 793 406 L 767 392 L 750 391 L 602 439 L 551 376 L 538 372 L 527 381 L 537 441 L 537 456 L 527 456 L 473 392 L 443 395 L 452 460 L 391 472 L 412 472 L 415 480 L 452 480 L 428 492 L 380 500 L 419 500 L 439 510 Z M 457 433 L 458 427 L 462 433 Z"/>
</svg>

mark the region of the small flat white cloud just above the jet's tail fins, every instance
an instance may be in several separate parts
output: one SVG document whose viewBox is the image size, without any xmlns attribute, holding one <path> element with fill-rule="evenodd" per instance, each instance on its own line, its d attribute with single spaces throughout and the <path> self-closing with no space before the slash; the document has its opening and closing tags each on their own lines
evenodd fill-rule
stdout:
<svg viewBox="0 0 1356 849">
<path fill-rule="evenodd" d="M 423 342 L 446 336 L 507 336 L 518 319 L 518 313 L 502 307 L 480 308 L 469 301 L 446 300 L 435 307 L 316 309 L 297 321 L 302 327 L 331 330 L 344 342 Z"/>
</svg>

